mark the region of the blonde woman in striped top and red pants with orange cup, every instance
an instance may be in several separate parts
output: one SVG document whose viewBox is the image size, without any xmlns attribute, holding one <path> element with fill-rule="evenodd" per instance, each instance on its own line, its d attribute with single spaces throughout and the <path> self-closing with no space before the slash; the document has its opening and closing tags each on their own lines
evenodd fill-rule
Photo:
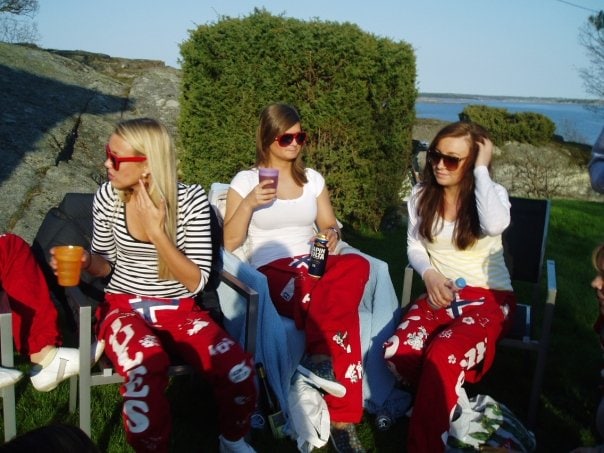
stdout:
<svg viewBox="0 0 604 453">
<path fill-rule="evenodd" d="M 119 123 L 105 151 L 109 182 L 95 195 L 83 268 L 109 277 L 98 336 L 125 378 L 127 440 L 137 452 L 169 449 L 170 351 L 213 385 L 220 451 L 253 451 L 243 440 L 256 403 L 251 358 L 194 300 L 212 264 L 206 194 L 177 181 L 172 141 L 158 121 Z"/>
</svg>

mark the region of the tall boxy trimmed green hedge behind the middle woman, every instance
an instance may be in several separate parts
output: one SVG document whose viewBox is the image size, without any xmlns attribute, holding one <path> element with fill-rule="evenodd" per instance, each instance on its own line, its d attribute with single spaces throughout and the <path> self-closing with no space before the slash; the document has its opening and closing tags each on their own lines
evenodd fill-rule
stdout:
<svg viewBox="0 0 604 453">
<path fill-rule="evenodd" d="M 310 134 L 305 161 L 325 176 L 340 219 L 377 229 L 400 204 L 417 96 L 407 43 L 255 10 L 192 30 L 181 54 L 185 180 L 208 187 L 249 168 L 260 111 L 287 102 Z"/>
</svg>

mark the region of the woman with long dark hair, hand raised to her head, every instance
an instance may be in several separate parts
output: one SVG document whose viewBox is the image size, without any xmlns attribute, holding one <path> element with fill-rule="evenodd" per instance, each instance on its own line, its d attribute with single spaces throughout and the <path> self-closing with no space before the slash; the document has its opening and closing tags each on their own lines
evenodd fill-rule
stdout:
<svg viewBox="0 0 604 453">
<path fill-rule="evenodd" d="M 445 450 L 457 389 L 490 368 L 515 308 L 501 238 L 510 202 L 489 175 L 492 154 L 481 126 L 445 126 L 408 202 L 407 254 L 426 294 L 405 313 L 384 355 L 416 390 L 409 452 Z"/>
</svg>

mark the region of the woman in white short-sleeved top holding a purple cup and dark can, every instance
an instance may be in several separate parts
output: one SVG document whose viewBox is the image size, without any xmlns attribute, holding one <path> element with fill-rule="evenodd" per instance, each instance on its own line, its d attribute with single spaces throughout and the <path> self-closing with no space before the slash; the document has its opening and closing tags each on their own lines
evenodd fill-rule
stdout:
<svg viewBox="0 0 604 453">
<path fill-rule="evenodd" d="M 306 168 L 296 109 L 270 104 L 260 114 L 256 166 L 233 178 L 227 195 L 224 246 L 249 243 L 250 264 L 265 274 L 279 314 L 306 335 L 300 371 L 325 392 L 331 439 L 337 451 L 362 452 L 354 424 L 363 415 L 359 303 L 369 276 L 360 255 L 329 255 L 321 278 L 309 275 L 315 225 L 330 253 L 340 229 L 323 176 Z M 278 181 L 260 181 L 259 170 L 277 169 Z M 276 184 L 275 184 L 276 183 Z"/>
</svg>

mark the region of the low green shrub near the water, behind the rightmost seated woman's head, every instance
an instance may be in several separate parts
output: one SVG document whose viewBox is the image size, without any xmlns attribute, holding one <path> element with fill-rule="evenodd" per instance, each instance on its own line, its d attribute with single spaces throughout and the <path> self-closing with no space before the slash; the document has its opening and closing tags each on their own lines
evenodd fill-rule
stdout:
<svg viewBox="0 0 604 453">
<path fill-rule="evenodd" d="M 540 113 L 510 113 L 486 105 L 468 105 L 459 118 L 487 128 L 498 145 L 509 141 L 543 145 L 552 139 L 556 130 L 554 122 Z"/>
</svg>

